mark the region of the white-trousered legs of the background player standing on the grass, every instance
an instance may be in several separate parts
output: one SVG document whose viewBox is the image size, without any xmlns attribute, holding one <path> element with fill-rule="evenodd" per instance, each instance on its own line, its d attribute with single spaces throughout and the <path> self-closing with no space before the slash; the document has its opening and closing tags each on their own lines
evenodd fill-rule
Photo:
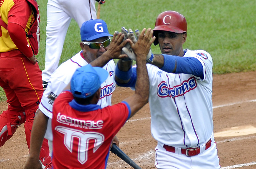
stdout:
<svg viewBox="0 0 256 169">
<path fill-rule="evenodd" d="M 104 0 L 97 0 L 103 4 Z M 57 69 L 73 18 L 79 27 L 87 20 L 96 19 L 95 0 L 48 0 L 45 46 L 45 69 L 42 71 L 43 88 L 47 87 L 52 73 Z"/>
</svg>

